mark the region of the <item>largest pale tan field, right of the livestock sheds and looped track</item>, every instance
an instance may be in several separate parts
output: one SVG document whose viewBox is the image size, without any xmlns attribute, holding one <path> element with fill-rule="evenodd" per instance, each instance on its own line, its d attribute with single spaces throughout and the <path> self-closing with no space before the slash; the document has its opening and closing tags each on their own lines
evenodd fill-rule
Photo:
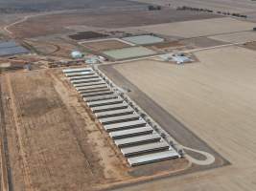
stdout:
<svg viewBox="0 0 256 191">
<path fill-rule="evenodd" d="M 231 165 L 122 190 L 256 189 L 256 54 L 228 47 L 196 55 L 200 62 L 185 66 L 146 60 L 115 68 Z"/>
</svg>

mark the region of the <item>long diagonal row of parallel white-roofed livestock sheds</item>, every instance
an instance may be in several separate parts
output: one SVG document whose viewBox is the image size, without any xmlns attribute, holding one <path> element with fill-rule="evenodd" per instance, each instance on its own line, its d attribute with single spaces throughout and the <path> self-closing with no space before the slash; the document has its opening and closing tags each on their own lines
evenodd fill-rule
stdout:
<svg viewBox="0 0 256 191">
<path fill-rule="evenodd" d="M 135 112 L 128 100 L 103 74 L 92 68 L 66 69 L 63 73 L 101 122 L 130 166 L 180 157 L 175 149 Z"/>
</svg>

